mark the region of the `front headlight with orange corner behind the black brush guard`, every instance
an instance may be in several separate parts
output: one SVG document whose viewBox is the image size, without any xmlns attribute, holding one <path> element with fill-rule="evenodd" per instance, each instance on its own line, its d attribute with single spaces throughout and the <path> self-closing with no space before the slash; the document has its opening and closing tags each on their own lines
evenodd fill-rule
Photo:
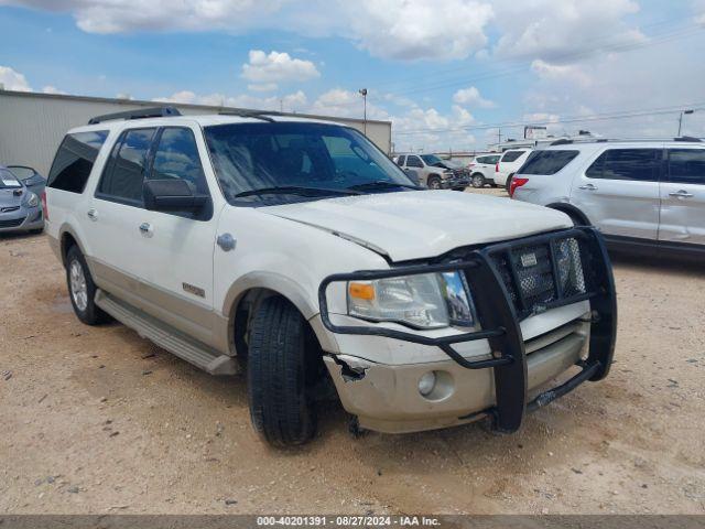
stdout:
<svg viewBox="0 0 705 529">
<path fill-rule="evenodd" d="M 473 298 L 460 272 L 349 282 L 348 315 L 415 328 L 470 328 L 477 322 Z"/>
</svg>

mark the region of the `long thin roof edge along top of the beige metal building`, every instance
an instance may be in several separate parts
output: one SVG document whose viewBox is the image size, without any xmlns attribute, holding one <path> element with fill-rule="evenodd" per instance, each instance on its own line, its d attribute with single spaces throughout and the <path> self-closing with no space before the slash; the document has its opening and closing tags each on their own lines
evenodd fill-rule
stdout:
<svg viewBox="0 0 705 529">
<path fill-rule="evenodd" d="M 37 99 L 63 99 L 67 101 L 87 101 L 87 102 L 104 102 L 111 105 L 124 105 L 129 106 L 140 106 L 140 107 L 154 107 L 159 105 L 171 105 L 177 108 L 185 108 L 192 110 L 203 110 L 204 115 L 218 114 L 220 111 L 227 110 L 249 110 L 254 112 L 267 114 L 267 110 L 262 109 L 243 109 L 239 107 L 228 107 L 228 106 L 214 106 L 214 105 L 193 105 L 188 102 L 164 102 L 164 101 L 147 101 L 143 99 L 119 99 L 119 98 L 110 98 L 110 97 L 93 97 L 93 96 L 69 96 L 65 94 L 43 94 L 36 91 L 15 91 L 15 90 L 1 90 L 0 96 L 9 95 L 9 96 L 18 96 L 18 97 L 26 97 L 26 98 L 37 98 Z M 319 116 L 315 114 L 299 114 L 299 112 L 278 112 L 285 116 L 296 116 L 302 118 L 310 119 L 322 119 L 322 120 L 333 120 L 335 122 L 350 122 L 350 123 L 359 123 L 362 122 L 362 119 L 356 118 L 343 118 L 337 116 Z M 380 123 L 380 125 L 389 125 L 391 127 L 391 121 L 382 121 L 377 119 L 367 119 L 368 123 Z"/>
</svg>

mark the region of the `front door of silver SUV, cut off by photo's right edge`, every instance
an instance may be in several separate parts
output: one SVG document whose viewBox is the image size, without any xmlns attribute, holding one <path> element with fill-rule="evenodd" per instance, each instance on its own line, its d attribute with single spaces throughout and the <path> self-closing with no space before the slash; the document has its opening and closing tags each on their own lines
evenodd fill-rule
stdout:
<svg viewBox="0 0 705 529">
<path fill-rule="evenodd" d="M 705 245 L 705 149 L 666 149 L 659 240 Z"/>
</svg>

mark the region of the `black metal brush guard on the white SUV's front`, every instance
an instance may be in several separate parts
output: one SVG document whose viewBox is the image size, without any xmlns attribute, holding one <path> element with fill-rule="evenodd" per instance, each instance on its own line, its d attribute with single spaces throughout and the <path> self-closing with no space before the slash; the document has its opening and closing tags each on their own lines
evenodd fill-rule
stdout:
<svg viewBox="0 0 705 529">
<path fill-rule="evenodd" d="M 579 256 L 586 288 L 583 293 L 562 296 L 556 269 L 556 245 L 558 241 L 570 238 L 574 238 L 581 244 Z M 589 300 L 592 310 L 590 338 L 587 359 L 577 364 L 582 368 L 581 371 L 563 385 L 544 391 L 531 402 L 528 402 L 527 353 L 519 325 L 520 320 L 517 315 L 514 302 L 492 258 L 503 253 L 511 261 L 512 250 L 538 245 L 549 245 L 551 249 L 555 292 L 558 298 L 551 303 L 543 304 L 542 310 Z M 326 291 L 333 282 L 365 281 L 458 270 L 465 271 L 482 331 L 432 338 L 392 328 L 335 325 L 330 322 Z M 516 278 L 514 273 L 514 280 Z M 519 285 L 517 284 L 516 287 L 519 290 Z M 524 300 L 521 293 L 519 293 L 517 302 L 520 307 L 524 307 Z M 494 428 L 507 433 L 514 432 L 521 427 L 527 410 L 532 411 L 541 408 L 570 392 L 586 380 L 595 381 L 605 378 L 612 360 L 617 334 L 617 301 L 611 266 L 603 237 L 592 227 L 576 227 L 490 245 L 469 250 L 459 260 L 454 261 L 328 276 L 318 288 L 318 303 L 323 324 L 333 333 L 384 336 L 415 344 L 436 346 L 467 369 L 494 368 L 496 406 L 489 410 L 460 419 L 471 419 L 475 415 L 488 414 L 492 419 Z M 494 357 L 484 360 L 467 360 L 453 348 L 453 344 L 475 339 L 487 339 L 490 350 L 494 352 Z"/>
</svg>

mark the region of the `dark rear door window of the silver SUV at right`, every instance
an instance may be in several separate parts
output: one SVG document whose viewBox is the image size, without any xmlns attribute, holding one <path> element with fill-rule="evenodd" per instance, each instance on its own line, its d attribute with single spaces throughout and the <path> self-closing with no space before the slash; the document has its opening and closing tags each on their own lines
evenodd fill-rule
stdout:
<svg viewBox="0 0 705 529">
<path fill-rule="evenodd" d="M 658 182 L 661 149 L 608 149 L 585 172 L 588 179 Z"/>
</svg>

